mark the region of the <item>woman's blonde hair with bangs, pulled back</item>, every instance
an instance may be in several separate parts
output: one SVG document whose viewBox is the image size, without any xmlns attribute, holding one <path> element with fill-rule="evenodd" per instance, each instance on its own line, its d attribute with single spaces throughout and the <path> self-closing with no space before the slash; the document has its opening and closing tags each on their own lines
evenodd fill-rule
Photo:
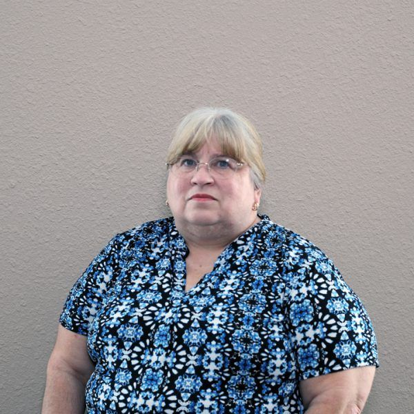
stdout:
<svg viewBox="0 0 414 414">
<path fill-rule="evenodd" d="M 199 108 L 186 115 L 172 137 L 167 162 L 175 163 L 187 152 L 197 152 L 215 139 L 223 154 L 250 166 L 255 188 L 266 179 L 262 139 L 250 121 L 226 108 Z"/>
</svg>

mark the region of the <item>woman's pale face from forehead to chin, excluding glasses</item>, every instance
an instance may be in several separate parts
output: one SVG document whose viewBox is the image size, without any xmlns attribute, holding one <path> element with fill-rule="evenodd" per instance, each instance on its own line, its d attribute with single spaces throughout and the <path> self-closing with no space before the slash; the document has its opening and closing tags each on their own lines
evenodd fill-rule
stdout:
<svg viewBox="0 0 414 414">
<path fill-rule="evenodd" d="M 203 163 L 218 155 L 226 154 L 222 154 L 217 141 L 212 140 L 193 157 Z M 212 177 L 206 165 L 187 177 L 168 173 L 168 204 L 179 227 L 221 224 L 244 231 L 257 215 L 252 206 L 259 203 L 260 195 L 261 190 L 254 188 L 248 166 L 239 168 L 228 179 Z"/>
</svg>

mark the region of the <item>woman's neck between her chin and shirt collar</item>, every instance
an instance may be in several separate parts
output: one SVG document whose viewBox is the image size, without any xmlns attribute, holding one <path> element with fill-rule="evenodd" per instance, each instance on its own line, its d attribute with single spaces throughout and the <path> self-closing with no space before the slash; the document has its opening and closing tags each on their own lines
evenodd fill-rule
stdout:
<svg viewBox="0 0 414 414">
<path fill-rule="evenodd" d="M 253 219 L 246 223 L 230 225 L 217 223 L 210 226 L 197 226 L 197 224 L 175 221 L 175 225 L 184 237 L 190 252 L 208 250 L 214 253 L 223 251 L 228 244 L 259 221 L 260 217 L 255 215 Z"/>
</svg>

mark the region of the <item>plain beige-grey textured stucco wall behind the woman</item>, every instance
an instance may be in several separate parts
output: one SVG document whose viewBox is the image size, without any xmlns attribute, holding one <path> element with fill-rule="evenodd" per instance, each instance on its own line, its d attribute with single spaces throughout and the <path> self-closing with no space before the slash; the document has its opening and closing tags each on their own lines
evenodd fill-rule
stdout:
<svg viewBox="0 0 414 414">
<path fill-rule="evenodd" d="M 262 212 L 333 258 L 375 324 L 365 413 L 411 413 L 412 1 L 3 1 L 0 400 L 39 411 L 70 286 L 168 214 L 164 155 L 204 105 L 249 117 Z"/>
</svg>

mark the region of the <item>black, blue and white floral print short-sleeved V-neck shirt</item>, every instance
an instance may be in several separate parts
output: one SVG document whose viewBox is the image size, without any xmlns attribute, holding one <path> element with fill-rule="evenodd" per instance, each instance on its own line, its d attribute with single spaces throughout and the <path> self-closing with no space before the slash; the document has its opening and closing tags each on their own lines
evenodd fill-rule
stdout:
<svg viewBox="0 0 414 414">
<path fill-rule="evenodd" d="M 260 217 L 188 292 L 172 217 L 95 257 L 60 318 L 88 335 L 88 413 L 303 413 L 299 381 L 377 365 L 371 321 L 333 262 Z"/>
</svg>

